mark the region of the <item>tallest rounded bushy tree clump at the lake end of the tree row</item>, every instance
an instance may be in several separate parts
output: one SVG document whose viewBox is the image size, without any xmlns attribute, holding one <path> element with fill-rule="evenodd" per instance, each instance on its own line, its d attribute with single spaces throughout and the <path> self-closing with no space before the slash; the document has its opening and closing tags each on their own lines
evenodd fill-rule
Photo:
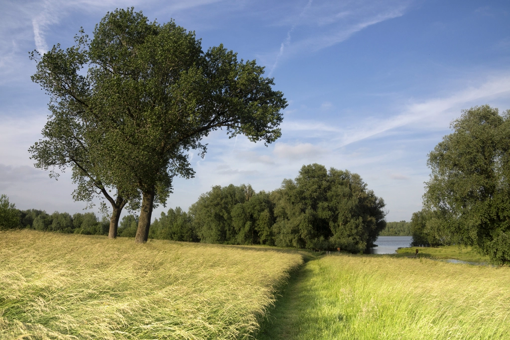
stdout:
<svg viewBox="0 0 510 340">
<path fill-rule="evenodd" d="M 275 202 L 275 244 L 360 253 L 385 228 L 385 203 L 358 174 L 319 164 L 303 166 L 271 196 Z"/>
</svg>

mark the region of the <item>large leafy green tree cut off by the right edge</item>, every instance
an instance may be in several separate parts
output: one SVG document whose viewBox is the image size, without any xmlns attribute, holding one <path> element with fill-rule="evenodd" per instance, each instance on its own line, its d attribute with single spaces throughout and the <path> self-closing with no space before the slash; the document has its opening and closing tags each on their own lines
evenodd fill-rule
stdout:
<svg viewBox="0 0 510 340">
<path fill-rule="evenodd" d="M 497 263 L 510 262 L 510 111 L 465 110 L 430 152 L 425 207 L 436 239 L 473 245 Z"/>
</svg>

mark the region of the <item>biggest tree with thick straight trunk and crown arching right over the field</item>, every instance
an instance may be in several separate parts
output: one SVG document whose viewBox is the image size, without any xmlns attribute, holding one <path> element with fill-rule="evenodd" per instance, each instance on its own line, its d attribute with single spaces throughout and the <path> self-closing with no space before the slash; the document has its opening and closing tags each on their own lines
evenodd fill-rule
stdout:
<svg viewBox="0 0 510 340">
<path fill-rule="evenodd" d="M 264 68 L 222 45 L 202 51 L 194 32 L 173 21 L 115 10 L 93 38 L 82 30 L 75 41 L 46 53 L 35 77 L 83 122 L 101 180 L 141 192 L 136 242 L 146 242 L 152 207 L 165 202 L 172 178 L 193 175 L 187 152 L 203 155 L 201 140 L 212 130 L 266 144 L 281 135 L 287 102 Z"/>
</svg>

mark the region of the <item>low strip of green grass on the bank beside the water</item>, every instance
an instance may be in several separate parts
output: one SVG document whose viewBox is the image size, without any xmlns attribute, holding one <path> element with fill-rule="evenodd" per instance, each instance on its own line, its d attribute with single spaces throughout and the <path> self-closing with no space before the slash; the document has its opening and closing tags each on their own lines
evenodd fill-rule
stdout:
<svg viewBox="0 0 510 340">
<path fill-rule="evenodd" d="M 480 255 L 472 250 L 471 247 L 464 246 L 443 246 L 443 247 L 410 247 L 400 248 L 398 254 L 414 255 L 418 249 L 418 255 L 433 258 L 456 258 L 469 262 L 489 263 L 489 256 Z"/>
</svg>

